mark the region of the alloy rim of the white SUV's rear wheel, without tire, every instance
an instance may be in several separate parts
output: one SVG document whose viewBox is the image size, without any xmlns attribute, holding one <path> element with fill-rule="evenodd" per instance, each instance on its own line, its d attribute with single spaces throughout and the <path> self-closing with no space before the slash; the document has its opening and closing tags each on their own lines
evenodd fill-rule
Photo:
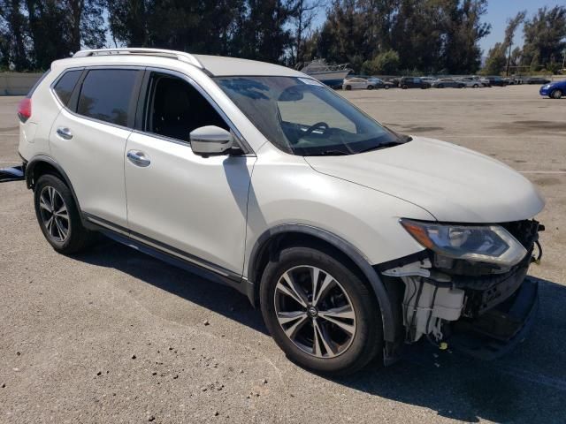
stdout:
<svg viewBox="0 0 566 424">
<path fill-rule="evenodd" d="M 71 221 L 61 193 L 52 186 L 45 186 L 39 197 L 42 224 L 50 238 L 63 243 L 69 237 Z"/>
</svg>

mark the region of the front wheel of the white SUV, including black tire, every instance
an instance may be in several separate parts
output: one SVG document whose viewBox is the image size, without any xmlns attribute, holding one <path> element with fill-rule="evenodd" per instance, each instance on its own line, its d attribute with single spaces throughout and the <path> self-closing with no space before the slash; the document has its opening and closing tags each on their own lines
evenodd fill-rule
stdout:
<svg viewBox="0 0 566 424">
<path fill-rule="evenodd" d="M 319 270 L 318 287 L 324 286 L 327 277 L 331 281 L 317 300 L 312 299 L 313 269 Z M 290 276 L 296 290 L 302 292 L 304 306 L 282 292 L 289 292 L 291 287 L 284 276 Z M 325 375 L 347 375 L 367 365 L 383 350 L 383 327 L 375 295 L 355 272 L 324 249 L 282 250 L 264 269 L 260 299 L 264 322 L 275 342 L 289 360 L 301 367 Z M 323 317 L 325 311 L 338 307 L 348 310 L 354 318 L 334 318 L 341 322 L 338 326 Z M 278 314 L 280 317 L 285 313 L 287 322 L 279 322 Z M 288 320 L 291 314 L 298 318 Z M 342 329 L 344 325 L 349 325 L 348 331 L 353 334 Z M 315 328 L 320 331 L 316 333 Z"/>
</svg>

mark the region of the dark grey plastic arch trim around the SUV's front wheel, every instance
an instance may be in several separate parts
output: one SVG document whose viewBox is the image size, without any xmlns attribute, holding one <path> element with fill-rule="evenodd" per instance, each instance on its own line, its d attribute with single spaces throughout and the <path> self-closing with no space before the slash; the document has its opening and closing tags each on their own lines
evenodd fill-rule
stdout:
<svg viewBox="0 0 566 424">
<path fill-rule="evenodd" d="M 251 250 L 248 262 L 248 297 L 254 306 L 259 301 L 259 286 L 265 265 L 273 254 L 278 254 L 283 246 L 301 246 L 301 244 L 317 243 L 326 246 L 343 255 L 351 265 L 356 267 L 365 280 L 371 285 L 371 290 L 378 300 L 383 322 L 383 335 L 386 342 L 394 342 L 396 324 L 393 306 L 386 291 L 386 284 L 379 274 L 371 267 L 364 255 L 348 241 L 341 239 L 332 232 L 305 224 L 281 224 L 264 233 L 256 240 Z"/>
</svg>

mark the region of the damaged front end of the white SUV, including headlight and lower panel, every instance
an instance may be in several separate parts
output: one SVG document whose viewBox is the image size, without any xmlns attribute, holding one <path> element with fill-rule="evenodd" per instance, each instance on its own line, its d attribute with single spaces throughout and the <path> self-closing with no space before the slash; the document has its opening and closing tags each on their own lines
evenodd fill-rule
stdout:
<svg viewBox="0 0 566 424">
<path fill-rule="evenodd" d="M 542 251 L 535 220 L 497 225 L 402 220 L 426 249 L 381 264 L 405 284 L 405 342 L 426 337 L 490 360 L 524 339 L 538 307 L 538 286 L 525 279 Z"/>
</svg>

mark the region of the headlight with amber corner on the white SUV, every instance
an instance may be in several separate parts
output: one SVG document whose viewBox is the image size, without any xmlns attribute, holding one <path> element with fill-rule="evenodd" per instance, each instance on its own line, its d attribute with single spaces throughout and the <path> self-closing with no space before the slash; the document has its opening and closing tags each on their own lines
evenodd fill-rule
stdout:
<svg viewBox="0 0 566 424">
<path fill-rule="evenodd" d="M 421 245 L 455 259 L 482 261 L 512 267 L 526 249 L 499 225 L 425 223 L 402 219 L 402 226 Z"/>
</svg>

